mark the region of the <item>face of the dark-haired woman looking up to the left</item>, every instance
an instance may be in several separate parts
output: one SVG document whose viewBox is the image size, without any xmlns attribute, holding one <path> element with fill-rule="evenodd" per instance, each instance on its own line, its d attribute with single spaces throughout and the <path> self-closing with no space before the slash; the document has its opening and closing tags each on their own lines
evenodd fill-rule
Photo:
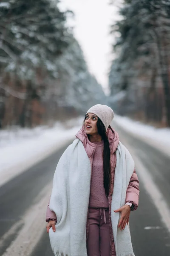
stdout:
<svg viewBox="0 0 170 256">
<path fill-rule="evenodd" d="M 98 117 L 93 113 L 87 113 L 85 118 L 85 133 L 94 135 L 98 134 L 97 131 L 97 120 Z"/>
</svg>

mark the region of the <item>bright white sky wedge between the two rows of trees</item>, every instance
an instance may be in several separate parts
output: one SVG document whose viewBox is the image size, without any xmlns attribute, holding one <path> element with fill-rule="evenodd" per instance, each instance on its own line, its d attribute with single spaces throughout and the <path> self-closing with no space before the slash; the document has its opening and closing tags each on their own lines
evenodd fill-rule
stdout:
<svg viewBox="0 0 170 256">
<path fill-rule="evenodd" d="M 59 5 L 74 12 L 74 36 L 82 47 L 89 71 L 105 93 L 108 93 L 108 71 L 113 59 L 110 25 L 118 18 L 118 8 L 108 3 L 109 0 L 61 0 Z"/>
</svg>

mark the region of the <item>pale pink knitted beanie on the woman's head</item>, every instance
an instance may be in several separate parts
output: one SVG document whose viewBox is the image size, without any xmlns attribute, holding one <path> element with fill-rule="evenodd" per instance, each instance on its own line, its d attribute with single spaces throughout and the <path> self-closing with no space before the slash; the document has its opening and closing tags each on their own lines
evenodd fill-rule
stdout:
<svg viewBox="0 0 170 256">
<path fill-rule="evenodd" d="M 105 125 L 106 131 L 114 117 L 113 109 L 101 104 L 97 104 L 89 108 L 87 113 L 94 113 L 96 116 L 98 116 L 102 123 Z"/>
</svg>

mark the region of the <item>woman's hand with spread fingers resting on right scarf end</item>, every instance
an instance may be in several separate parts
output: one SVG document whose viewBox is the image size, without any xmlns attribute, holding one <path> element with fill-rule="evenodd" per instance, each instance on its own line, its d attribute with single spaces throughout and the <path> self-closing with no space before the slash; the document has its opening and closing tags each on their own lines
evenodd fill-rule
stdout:
<svg viewBox="0 0 170 256">
<path fill-rule="evenodd" d="M 114 210 L 114 212 L 120 212 L 121 218 L 118 224 L 118 227 L 121 227 L 121 230 L 124 230 L 126 223 L 129 223 L 129 216 L 130 216 L 130 206 L 124 205 L 121 208 Z"/>
</svg>

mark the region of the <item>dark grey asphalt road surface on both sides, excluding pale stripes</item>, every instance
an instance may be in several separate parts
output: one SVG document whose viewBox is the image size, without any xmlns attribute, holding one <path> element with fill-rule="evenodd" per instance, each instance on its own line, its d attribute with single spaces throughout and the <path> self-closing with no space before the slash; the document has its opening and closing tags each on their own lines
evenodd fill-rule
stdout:
<svg viewBox="0 0 170 256">
<path fill-rule="evenodd" d="M 115 128 L 122 143 L 126 140 L 126 143 L 129 143 L 130 147 L 133 147 L 136 151 L 170 207 L 170 158 L 161 154 L 156 148 L 133 138 L 122 131 L 121 128 Z M 22 216 L 33 204 L 34 198 L 52 180 L 56 164 L 65 148 L 60 149 L 41 163 L 0 187 L 0 239 L 10 231 L 11 226 L 16 221 L 22 221 Z M 136 172 L 138 172 L 137 168 Z M 0 256 L 20 233 L 21 227 L 12 233 L 4 244 L 0 244 Z M 48 234 L 45 227 L 43 228 L 44 233 L 42 233 L 41 239 L 37 241 L 31 256 L 53 255 Z M 142 182 L 140 182 L 139 207 L 137 211 L 131 212 L 130 215 L 130 230 L 136 256 L 170 255 L 170 233 L 162 222 L 158 209 L 144 189 Z"/>
</svg>

